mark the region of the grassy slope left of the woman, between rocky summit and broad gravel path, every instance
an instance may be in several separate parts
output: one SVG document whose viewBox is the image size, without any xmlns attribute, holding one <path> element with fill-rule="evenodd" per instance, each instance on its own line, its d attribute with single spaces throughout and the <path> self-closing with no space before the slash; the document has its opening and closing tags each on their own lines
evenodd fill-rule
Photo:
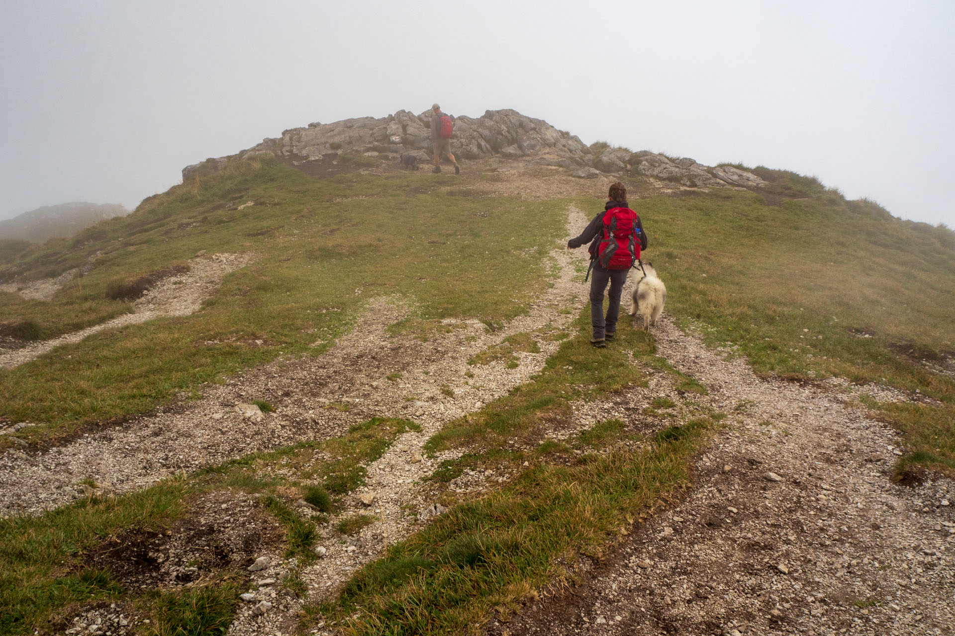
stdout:
<svg viewBox="0 0 955 636">
<path fill-rule="evenodd" d="M 540 255 L 562 233 L 562 209 L 429 194 L 450 178 L 315 180 L 275 161 L 246 162 L 153 197 L 133 215 L 68 244 L 47 244 L 7 271 L 56 275 L 101 256 L 96 269 L 52 302 L 3 310 L 37 323 L 44 335 L 126 311 L 124 303 L 106 298 L 111 283 L 200 250 L 252 252 L 256 261 L 226 277 L 193 316 L 100 332 L 0 372 L 6 397 L 0 417 L 45 422 L 32 430 L 36 438 L 148 411 L 181 390 L 280 353 L 324 351 L 368 297 L 382 294 L 417 303 L 408 327 L 427 328 L 422 320 L 446 317 L 499 323 L 520 314 L 546 284 Z M 235 210 L 249 200 L 256 205 Z M 535 222 L 526 223 L 527 217 Z"/>
</svg>

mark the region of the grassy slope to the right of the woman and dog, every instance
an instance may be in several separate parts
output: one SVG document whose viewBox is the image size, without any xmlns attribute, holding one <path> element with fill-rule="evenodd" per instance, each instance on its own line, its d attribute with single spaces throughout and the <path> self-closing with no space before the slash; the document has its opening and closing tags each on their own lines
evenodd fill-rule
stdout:
<svg viewBox="0 0 955 636">
<path fill-rule="evenodd" d="M 759 373 L 939 400 L 873 406 L 909 441 L 902 468 L 955 474 L 955 378 L 922 363 L 955 350 L 955 234 L 803 188 L 812 196 L 779 207 L 734 191 L 641 200 L 668 311 Z"/>
</svg>

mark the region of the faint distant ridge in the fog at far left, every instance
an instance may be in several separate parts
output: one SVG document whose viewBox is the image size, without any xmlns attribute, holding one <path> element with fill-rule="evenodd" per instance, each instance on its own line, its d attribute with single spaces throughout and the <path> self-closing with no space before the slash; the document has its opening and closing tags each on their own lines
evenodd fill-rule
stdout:
<svg viewBox="0 0 955 636">
<path fill-rule="evenodd" d="M 43 242 L 53 236 L 73 236 L 80 230 L 129 210 L 118 203 L 61 203 L 0 221 L 0 239 L 13 238 Z"/>
</svg>

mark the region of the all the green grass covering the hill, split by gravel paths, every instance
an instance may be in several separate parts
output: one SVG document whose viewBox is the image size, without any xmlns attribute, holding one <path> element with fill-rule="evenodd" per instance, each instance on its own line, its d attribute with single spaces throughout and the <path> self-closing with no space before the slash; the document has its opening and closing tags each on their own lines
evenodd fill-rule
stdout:
<svg viewBox="0 0 955 636">
<path fill-rule="evenodd" d="M 546 289 L 547 255 L 564 234 L 568 206 L 587 215 L 602 209 L 598 197 L 495 195 L 503 177 L 493 173 L 462 181 L 354 160 L 365 170 L 321 179 L 267 157 L 234 161 L 215 174 L 192 174 L 132 215 L 9 256 L 0 278 L 55 277 L 94 265 L 51 301 L 0 296 L 0 322 L 33 339 L 129 311 L 110 290 L 181 267 L 201 251 L 250 253 L 254 262 L 226 277 L 192 316 L 102 332 L 0 371 L 0 417 L 40 424 L 20 432 L 28 444 L 60 443 L 97 424 L 188 400 L 203 382 L 249 366 L 319 355 L 375 296 L 414 303 L 411 317 L 393 326 L 397 333 L 433 338 L 446 328 L 442 318 L 477 318 L 497 330 Z M 769 185 L 661 192 L 643 176 L 624 177 L 647 228 L 646 257 L 668 286 L 668 314 L 708 343 L 729 346 L 757 373 L 874 383 L 915 397 L 867 399 L 905 436 L 899 476 L 955 475 L 955 234 L 902 221 L 869 201 L 848 201 L 816 179 L 753 172 Z M 565 178 L 533 175 L 541 191 Z M 490 466 L 506 467 L 514 479 L 473 500 L 445 492 L 448 514 L 356 571 L 340 597 L 307 605 L 303 629 L 335 620 L 355 634 L 459 632 L 567 576 L 579 555 L 600 554 L 626 523 L 689 482 L 694 454 L 725 417 L 692 403 L 707 388 L 656 357 L 652 337 L 625 321 L 613 347 L 593 349 L 587 308 L 566 311 L 576 321 L 541 374 L 449 422 L 426 445 L 432 453 L 460 451 L 435 473 L 437 484 Z M 512 347 L 527 344 L 517 340 Z M 569 417 L 571 400 L 647 386 L 647 368 L 680 382 L 690 396 L 672 426 L 645 436 L 604 421 L 534 452 L 509 446 L 537 441 L 548 421 Z M 661 411 L 671 406 L 657 404 Z M 0 605 L 11 610 L 0 633 L 54 630 L 64 608 L 90 599 L 136 605 L 154 617 L 143 633 L 227 623 L 242 591 L 235 571 L 218 571 L 197 588 L 144 592 L 123 588 L 83 555 L 130 528 L 168 528 L 189 503 L 236 489 L 263 498 L 287 555 L 308 563 L 315 523 L 329 522 L 341 498 L 360 485 L 357 466 L 413 427 L 369 421 L 340 439 L 210 466 L 132 495 L 92 496 L 37 519 L 4 520 Z M 307 468 L 315 457 L 320 464 Z M 328 489 L 329 503 L 302 521 L 287 505 L 309 493 L 326 502 L 308 491 L 315 483 Z M 294 577 L 285 585 L 302 586 Z"/>
</svg>

